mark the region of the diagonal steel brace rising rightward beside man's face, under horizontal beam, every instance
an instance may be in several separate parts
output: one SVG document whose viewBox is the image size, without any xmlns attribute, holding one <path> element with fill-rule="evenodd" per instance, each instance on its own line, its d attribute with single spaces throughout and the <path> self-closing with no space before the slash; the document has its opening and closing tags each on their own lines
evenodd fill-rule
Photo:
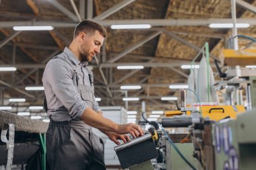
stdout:
<svg viewBox="0 0 256 170">
<path fill-rule="evenodd" d="M 139 46 L 145 44 L 146 42 L 148 42 L 149 40 L 152 40 L 153 38 L 155 38 L 156 36 L 158 36 L 159 34 L 161 34 L 160 31 L 158 32 L 154 32 L 153 34 L 151 34 L 150 36 L 147 36 L 146 38 L 143 38 L 143 40 L 141 40 L 140 42 L 137 42 L 136 44 L 133 44 L 132 46 L 130 46 L 128 49 L 124 50 L 123 52 L 121 52 L 120 54 L 117 54 L 117 56 L 114 56 L 113 58 L 111 58 L 110 60 L 108 60 L 108 62 L 113 63 L 116 60 L 119 60 L 120 58 L 122 58 L 123 56 L 125 56 L 126 54 L 128 54 L 129 52 L 135 50 L 136 48 L 138 48 Z"/>
</svg>

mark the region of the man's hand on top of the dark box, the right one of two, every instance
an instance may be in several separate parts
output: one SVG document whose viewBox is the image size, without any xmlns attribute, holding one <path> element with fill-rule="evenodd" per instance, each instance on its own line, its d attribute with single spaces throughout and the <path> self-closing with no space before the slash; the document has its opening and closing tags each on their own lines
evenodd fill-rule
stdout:
<svg viewBox="0 0 256 170">
<path fill-rule="evenodd" d="M 143 130 L 137 124 L 121 124 L 118 126 L 117 134 L 131 134 L 133 138 L 143 136 Z"/>
</svg>

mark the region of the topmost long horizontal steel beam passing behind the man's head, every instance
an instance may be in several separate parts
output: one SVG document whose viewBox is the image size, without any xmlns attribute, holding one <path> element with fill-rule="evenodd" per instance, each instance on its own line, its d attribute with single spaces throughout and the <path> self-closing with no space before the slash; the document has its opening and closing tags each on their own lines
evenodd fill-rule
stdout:
<svg viewBox="0 0 256 170">
<path fill-rule="evenodd" d="M 75 19 L 77 17 L 73 15 Z M 77 21 L 78 22 L 78 21 Z M 51 22 L 51 21 L 26 21 L 26 22 L 0 22 L 1 28 L 12 28 L 13 26 L 53 26 L 55 28 L 74 28 L 77 22 Z M 212 18 L 212 19 L 113 19 L 98 21 L 102 26 L 111 26 L 113 24 L 150 24 L 151 26 L 209 26 L 212 23 L 232 23 L 230 18 Z M 256 25 L 254 18 L 238 18 L 237 23 L 248 23 L 251 26 Z"/>
</svg>

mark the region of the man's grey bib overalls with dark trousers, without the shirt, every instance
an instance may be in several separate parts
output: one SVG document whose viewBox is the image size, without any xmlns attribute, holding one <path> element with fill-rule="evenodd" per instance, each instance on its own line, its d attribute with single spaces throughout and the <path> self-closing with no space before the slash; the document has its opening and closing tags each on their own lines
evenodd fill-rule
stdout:
<svg viewBox="0 0 256 170">
<path fill-rule="evenodd" d="M 73 71 L 72 79 L 77 92 L 88 108 L 92 108 L 94 96 L 92 80 L 90 79 L 91 86 L 83 85 L 79 83 L 75 69 Z M 46 108 L 46 102 L 44 103 Z M 51 170 L 105 169 L 100 138 L 93 134 L 92 127 L 82 120 L 72 119 L 65 122 L 51 120 L 46 132 L 46 154 Z"/>
</svg>

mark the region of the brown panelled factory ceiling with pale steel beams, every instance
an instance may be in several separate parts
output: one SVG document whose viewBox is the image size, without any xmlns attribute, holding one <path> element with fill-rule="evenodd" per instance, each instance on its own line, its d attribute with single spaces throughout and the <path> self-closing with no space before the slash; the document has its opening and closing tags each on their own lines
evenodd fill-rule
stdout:
<svg viewBox="0 0 256 170">
<path fill-rule="evenodd" d="M 255 6 L 254 0 L 236 1 L 237 22 L 251 25 L 238 29 L 238 34 L 256 36 Z M 179 97 L 179 91 L 168 86 L 187 83 L 189 70 L 181 65 L 190 65 L 205 42 L 209 42 L 211 58 L 221 61 L 231 30 L 212 29 L 209 24 L 232 22 L 230 0 L 1 0 L 0 64 L 17 68 L 0 73 L 1 105 L 42 105 L 44 92 L 25 87 L 42 85 L 46 62 L 69 46 L 75 25 L 86 18 L 108 31 L 101 53 L 90 63 L 100 105 L 125 106 L 123 97 L 139 97 L 128 103 L 128 110 L 137 111 L 142 100 L 148 111 L 174 109 L 173 101 L 160 97 Z M 113 30 L 113 24 L 151 24 L 152 28 Z M 13 26 L 39 25 L 54 30 L 13 30 Z M 239 48 L 255 48 L 255 44 L 241 39 Z M 143 65 L 144 69 L 118 70 L 118 65 Z M 123 91 L 121 85 L 141 85 L 141 89 Z M 26 102 L 7 101 L 20 97 Z"/>
</svg>

